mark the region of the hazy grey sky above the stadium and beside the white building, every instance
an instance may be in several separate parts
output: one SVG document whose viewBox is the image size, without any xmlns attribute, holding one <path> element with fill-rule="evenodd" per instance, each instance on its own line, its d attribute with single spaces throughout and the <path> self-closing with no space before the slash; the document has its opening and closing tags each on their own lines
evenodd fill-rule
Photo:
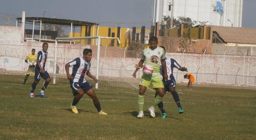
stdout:
<svg viewBox="0 0 256 140">
<path fill-rule="evenodd" d="M 230 0 L 234 1 L 234 0 Z M 243 27 L 256 28 L 256 0 L 244 0 Z M 15 25 L 15 17 L 44 17 L 97 22 L 116 27 L 141 27 L 151 24 L 154 0 L 1 0 L 0 25 L 4 25 L 7 14 Z"/>
</svg>

